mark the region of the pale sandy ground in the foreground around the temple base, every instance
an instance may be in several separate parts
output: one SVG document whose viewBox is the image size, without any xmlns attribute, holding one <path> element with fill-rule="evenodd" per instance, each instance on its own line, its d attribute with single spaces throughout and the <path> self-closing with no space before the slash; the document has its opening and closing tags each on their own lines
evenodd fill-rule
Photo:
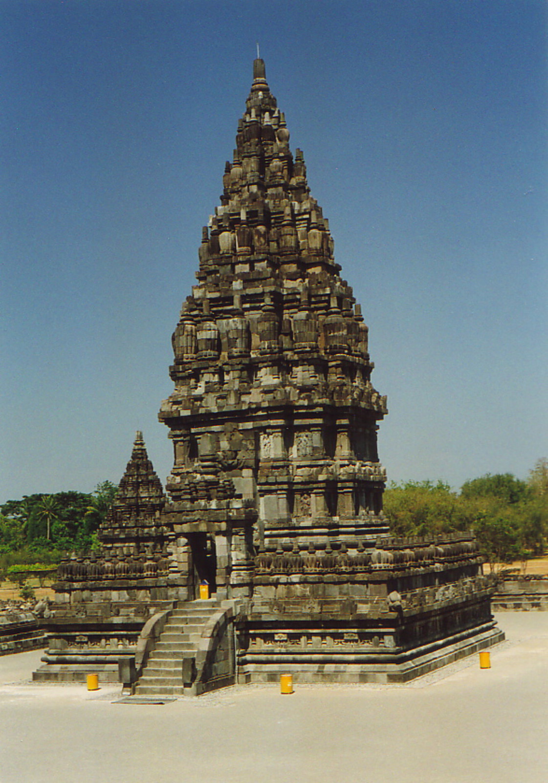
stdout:
<svg viewBox="0 0 548 783">
<path fill-rule="evenodd" d="M 120 687 L 31 684 L 0 658 L 1 783 L 545 783 L 548 612 L 498 615 L 507 641 L 395 686 L 234 687 L 165 705 Z"/>
</svg>

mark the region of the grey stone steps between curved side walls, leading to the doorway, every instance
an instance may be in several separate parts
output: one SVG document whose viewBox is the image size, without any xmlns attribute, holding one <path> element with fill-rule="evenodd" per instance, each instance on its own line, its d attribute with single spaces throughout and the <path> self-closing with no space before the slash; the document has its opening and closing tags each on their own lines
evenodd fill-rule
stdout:
<svg viewBox="0 0 548 783">
<path fill-rule="evenodd" d="M 137 696 L 182 696 L 184 681 L 190 680 L 196 648 L 202 630 L 220 604 L 208 601 L 185 601 L 177 604 L 149 656 L 135 687 Z M 185 677 L 183 677 L 183 668 Z"/>
</svg>

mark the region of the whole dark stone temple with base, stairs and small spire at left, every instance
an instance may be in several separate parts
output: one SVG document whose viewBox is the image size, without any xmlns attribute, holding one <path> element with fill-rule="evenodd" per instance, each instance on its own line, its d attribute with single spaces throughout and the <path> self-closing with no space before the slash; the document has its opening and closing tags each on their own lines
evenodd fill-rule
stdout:
<svg viewBox="0 0 548 783">
<path fill-rule="evenodd" d="M 101 552 L 59 567 L 34 678 L 405 681 L 495 644 L 475 539 L 390 535 L 386 398 L 263 60 L 223 186 L 172 337 L 166 493 L 138 433 Z"/>
</svg>

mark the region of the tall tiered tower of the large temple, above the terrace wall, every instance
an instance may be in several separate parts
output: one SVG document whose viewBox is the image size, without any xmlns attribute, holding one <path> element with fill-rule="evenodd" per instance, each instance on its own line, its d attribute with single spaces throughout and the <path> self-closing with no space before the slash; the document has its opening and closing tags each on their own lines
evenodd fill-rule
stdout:
<svg viewBox="0 0 548 783">
<path fill-rule="evenodd" d="M 387 531 L 386 398 L 263 60 L 253 77 L 173 336 L 175 390 L 159 414 L 174 440 L 167 490 L 182 522 L 199 511 L 243 525 L 238 503 L 254 505 L 259 549 L 342 538 L 357 550 Z"/>
</svg>

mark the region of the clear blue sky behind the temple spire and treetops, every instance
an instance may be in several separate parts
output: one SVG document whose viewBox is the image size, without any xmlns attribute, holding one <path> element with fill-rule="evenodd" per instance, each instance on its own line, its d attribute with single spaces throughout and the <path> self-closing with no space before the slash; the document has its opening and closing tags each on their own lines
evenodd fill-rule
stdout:
<svg viewBox="0 0 548 783">
<path fill-rule="evenodd" d="M 120 480 L 256 41 L 389 398 L 389 478 L 548 456 L 544 0 L 0 0 L 0 501 Z"/>
</svg>

